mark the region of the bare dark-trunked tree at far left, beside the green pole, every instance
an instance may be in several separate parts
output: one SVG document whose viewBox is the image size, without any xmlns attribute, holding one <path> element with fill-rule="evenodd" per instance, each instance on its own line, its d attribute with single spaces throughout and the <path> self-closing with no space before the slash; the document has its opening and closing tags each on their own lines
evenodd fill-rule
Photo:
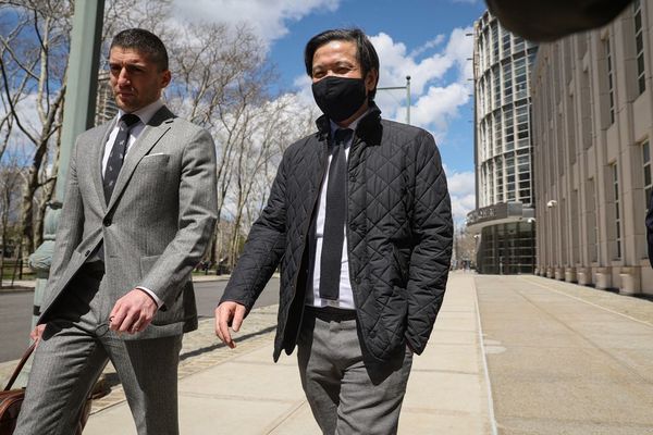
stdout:
<svg viewBox="0 0 653 435">
<path fill-rule="evenodd" d="M 21 200 L 22 246 L 29 253 L 35 246 L 34 198 L 38 189 L 53 183 L 42 165 L 48 152 L 57 147 L 53 142 L 61 127 L 72 4 L 65 0 L 24 0 L 0 8 L 15 20 L 10 37 L 0 38 L 4 50 L 0 63 L 4 101 L 14 128 L 33 145 Z M 22 80 L 26 80 L 24 85 Z M 33 125 L 35 114 L 26 110 L 26 104 L 19 104 L 28 99 L 37 125 Z"/>
</svg>

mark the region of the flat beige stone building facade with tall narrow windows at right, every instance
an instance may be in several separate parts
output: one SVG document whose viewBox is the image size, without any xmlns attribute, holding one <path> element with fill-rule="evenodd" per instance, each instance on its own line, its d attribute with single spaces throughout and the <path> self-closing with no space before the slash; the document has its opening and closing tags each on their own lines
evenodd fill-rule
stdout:
<svg viewBox="0 0 653 435">
<path fill-rule="evenodd" d="M 653 295 L 653 2 L 540 47 L 532 75 L 537 273 Z"/>
</svg>

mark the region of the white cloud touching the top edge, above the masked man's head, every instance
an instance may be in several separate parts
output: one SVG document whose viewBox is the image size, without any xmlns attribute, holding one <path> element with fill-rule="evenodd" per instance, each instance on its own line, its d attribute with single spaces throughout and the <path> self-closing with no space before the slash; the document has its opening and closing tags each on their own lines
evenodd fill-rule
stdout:
<svg viewBox="0 0 653 435">
<path fill-rule="evenodd" d="M 333 12 L 341 0 L 174 0 L 180 18 L 190 22 L 246 23 L 263 41 L 288 33 L 286 23 L 319 10 Z"/>
</svg>

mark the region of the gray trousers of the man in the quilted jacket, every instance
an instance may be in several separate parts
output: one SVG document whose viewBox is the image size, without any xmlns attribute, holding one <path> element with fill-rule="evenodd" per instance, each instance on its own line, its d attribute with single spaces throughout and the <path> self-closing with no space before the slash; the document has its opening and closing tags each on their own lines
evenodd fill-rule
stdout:
<svg viewBox="0 0 653 435">
<path fill-rule="evenodd" d="M 374 360 L 360 344 L 356 322 L 306 309 L 297 341 L 304 391 L 325 435 L 396 434 L 412 352 Z"/>
</svg>

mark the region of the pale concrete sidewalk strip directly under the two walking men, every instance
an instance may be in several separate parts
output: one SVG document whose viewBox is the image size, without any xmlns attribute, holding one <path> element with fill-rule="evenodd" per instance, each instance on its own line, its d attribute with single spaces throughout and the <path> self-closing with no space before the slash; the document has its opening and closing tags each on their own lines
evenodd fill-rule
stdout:
<svg viewBox="0 0 653 435">
<path fill-rule="evenodd" d="M 234 350 L 218 345 L 212 320 L 186 335 L 180 365 L 182 434 L 319 434 L 295 355 L 272 362 L 276 308 L 246 319 Z M 409 435 L 491 434 L 473 275 L 452 274 L 429 346 L 414 360 L 399 421 Z M 85 435 L 135 434 L 121 387 L 97 401 Z"/>
</svg>

